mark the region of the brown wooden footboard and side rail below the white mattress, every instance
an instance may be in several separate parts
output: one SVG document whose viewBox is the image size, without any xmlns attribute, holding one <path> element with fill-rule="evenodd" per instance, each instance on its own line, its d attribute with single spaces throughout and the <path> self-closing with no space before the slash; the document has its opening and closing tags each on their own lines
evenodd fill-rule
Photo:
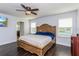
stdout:
<svg viewBox="0 0 79 59">
<path fill-rule="evenodd" d="M 51 48 L 51 46 L 53 44 L 54 44 L 54 42 L 51 41 L 43 49 L 40 49 L 40 48 L 35 47 L 35 46 L 31 45 L 31 44 L 28 44 L 27 42 L 24 42 L 22 40 L 18 40 L 18 47 L 21 47 L 24 50 L 27 50 L 27 51 L 29 51 L 31 53 L 35 53 L 35 54 L 37 54 L 39 56 L 43 56 L 47 52 L 47 50 Z"/>
</svg>

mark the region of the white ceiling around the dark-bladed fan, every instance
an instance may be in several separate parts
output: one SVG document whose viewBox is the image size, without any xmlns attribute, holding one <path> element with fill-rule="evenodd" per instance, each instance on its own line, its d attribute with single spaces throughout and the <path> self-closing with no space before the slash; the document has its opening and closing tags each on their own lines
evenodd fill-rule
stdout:
<svg viewBox="0 0 79 59">
<path fill-rule="evenodd" d="M 38 17 L 52 15 L 61 12 L 67 12 L 79 8 L 78 3 L 24 3 L 26 6 L 32 8 L 39 8 Z M 24 12 L 16 11 L 16 9 L 23 9 L 20 3 L 0 3 L 0 13 L 5 13 L 17 17 L 27 17 Z M 31 17 L 36 17 L 31 15 Z"/>
</svg>

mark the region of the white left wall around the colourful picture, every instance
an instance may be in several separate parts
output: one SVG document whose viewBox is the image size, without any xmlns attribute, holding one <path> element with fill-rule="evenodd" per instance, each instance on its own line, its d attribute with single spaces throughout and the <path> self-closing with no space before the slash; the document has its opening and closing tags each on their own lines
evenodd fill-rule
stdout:
<svg viewBox="0 0 79 59">
<path fill-rule="evenodd" d="M 0 45 L 15 42 L 16 39 L 16 17 L 2 14 L 8 18 L 8 27 L 0 27 Z"/>
</svg>

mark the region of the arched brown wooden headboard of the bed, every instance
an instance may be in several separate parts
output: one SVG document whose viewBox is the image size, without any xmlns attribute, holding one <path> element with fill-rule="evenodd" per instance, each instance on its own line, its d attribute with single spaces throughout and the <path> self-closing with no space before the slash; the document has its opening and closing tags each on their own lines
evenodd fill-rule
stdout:
<svg viewBox="0 0 79 59">
<path fill-rule="evenodd" d="M 37 27 L 37 32 L 51 32 L 56 34 L 56 26 L 51 26 L 48 24 L 42 24 Z"/>
</svg>

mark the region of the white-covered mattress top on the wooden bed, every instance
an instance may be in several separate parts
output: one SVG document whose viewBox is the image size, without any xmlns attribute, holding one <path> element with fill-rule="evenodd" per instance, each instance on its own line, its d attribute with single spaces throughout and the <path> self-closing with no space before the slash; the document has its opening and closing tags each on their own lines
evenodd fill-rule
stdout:
<svg viewBox="0 0 79 59">
<path fill-rule="evenodd" d="M 21 36 L 19 39 L 41 49 L 52 41 L 51 37 L 43 35 L 26 35 Z"/>
</svg>

